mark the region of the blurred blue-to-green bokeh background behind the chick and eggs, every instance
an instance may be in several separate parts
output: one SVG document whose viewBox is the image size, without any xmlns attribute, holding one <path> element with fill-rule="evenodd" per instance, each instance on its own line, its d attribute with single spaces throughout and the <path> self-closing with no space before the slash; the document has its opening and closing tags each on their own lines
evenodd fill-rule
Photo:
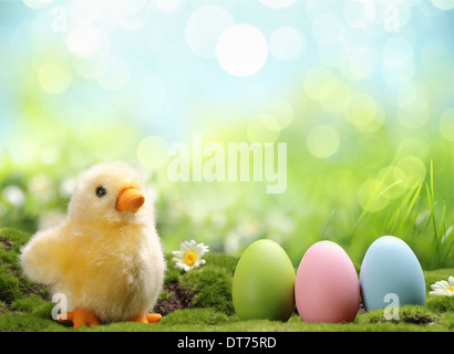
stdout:
<svg viewBox="0 0 454 354">
<path fill-rule="evenodd" d="M 0 226 L 66 212 L 81 171 L 126 160 L 166 251 L 321 239 L 360 263 L 395 235 L 453 266 L 452 0 L 0 1 Z M 167 148 L 287 144 L 287 189 L 172 183 Z M 431 164 L 433 167 L 431 167 Z"/>
</svg>

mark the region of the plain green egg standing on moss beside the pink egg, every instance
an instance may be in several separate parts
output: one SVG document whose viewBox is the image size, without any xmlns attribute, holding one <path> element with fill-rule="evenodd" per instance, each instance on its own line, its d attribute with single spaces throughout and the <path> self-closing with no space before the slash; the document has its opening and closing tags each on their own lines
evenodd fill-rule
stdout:
<svg viewBox="0 0 454 354">
<path fill-rule="evenodd" d="M 275 241 L 258 240 L 243 253 L 231 296 L 241 320 L 287 321 L 295 309 L 295 269 Z"/>
</svg>

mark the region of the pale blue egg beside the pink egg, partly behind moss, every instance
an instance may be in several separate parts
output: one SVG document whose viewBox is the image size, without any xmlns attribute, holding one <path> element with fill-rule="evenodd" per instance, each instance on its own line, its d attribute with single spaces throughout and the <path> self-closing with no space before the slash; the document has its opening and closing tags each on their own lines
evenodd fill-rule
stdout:
<svg viewBox="0 0 454 354">
<path fill-rule="evenodd" d="M 399 305 L 425 303 L 420 261 L 404 241 L 393 236 L 383 236 L 369 247 L 361 264 L 360 289 L 368 311 L 390 305 L 390 299 L 398 300 Z"/>
</svg>

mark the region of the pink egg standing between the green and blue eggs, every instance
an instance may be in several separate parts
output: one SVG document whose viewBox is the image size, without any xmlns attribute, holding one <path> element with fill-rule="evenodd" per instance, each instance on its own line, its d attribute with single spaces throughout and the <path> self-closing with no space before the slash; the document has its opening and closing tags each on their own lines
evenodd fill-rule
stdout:
<svg viewBox="0 0 454 354">
<path fill-rule="evenodd" d="M 312 244 L 295 282 L 298 313 L 305 322 L 352 322 L 360 306 L 360 283 L 347 252 L 332 241 Z"/>
</svg>

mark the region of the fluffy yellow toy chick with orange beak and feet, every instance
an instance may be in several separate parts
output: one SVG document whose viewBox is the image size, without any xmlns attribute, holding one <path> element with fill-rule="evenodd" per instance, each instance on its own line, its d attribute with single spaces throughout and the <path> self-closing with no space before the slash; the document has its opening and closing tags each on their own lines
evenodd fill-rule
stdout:
<svg viewBox="0 0 454 354">
<path fill-rule="evenodd" d="M 66 298 L 61 322 L 158 322 L 148 313 L 162 290 L 165 260 L 154 207 L 141 176 L 123 163 L 99 164 L 80 179 L 68 217 L 37 232 L 21 251 L 32 281 Z"/>
</svg>

